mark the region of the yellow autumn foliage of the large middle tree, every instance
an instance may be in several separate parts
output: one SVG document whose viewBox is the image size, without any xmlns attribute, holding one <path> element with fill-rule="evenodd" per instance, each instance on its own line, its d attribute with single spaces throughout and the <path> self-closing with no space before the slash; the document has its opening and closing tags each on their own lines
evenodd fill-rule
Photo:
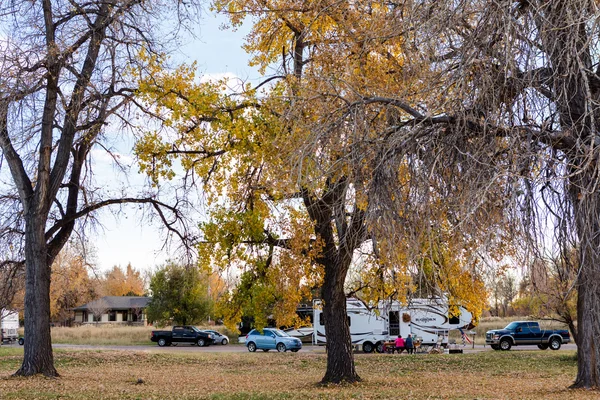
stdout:
<svg viewBox="0 0 600 400">
<path fill-rule="evenodd" d="M 246 86 L 231 93 L 226 81 L 199 83 L 194 65 L 166 72 L 162 60 L 142 55 L 149 73 L 140 95 L 162 125 L 146 133 L 136 153 L 155 183 L 174 177 L 174 159 L 204 180 L 210 218 L 202 224 L 200 262 L 217 272 L 234 268 L 240 282 L 221 304 L 226 320 L 253 315 L 261 326 L 270 315 L 288 325 L 297 322 L 298 303 L 318 296 L 323 279 L 322 238 L 300 193 L 318 198 L 331 182 L 350 182 L 336 212 L 379 213 L 374 174 L 389 151 L 386 135 L 414 117 L 389 104 L 437 104 L 423 90 L 435 68 L 411 43 L 411 22 L 404 19 L 415 6 L 410 1 L 219 0 L 213 6 L 233 26 L 252 17 L 244 48 L 262 73 L 277 66 L 277 76 L 260 92 Z M 414 173 L 397 165 L 396 181 L 387 183 L 393 203 L 413 196 Z M 444 215 L 442 207 L 436 218 Z M 376 225 L 389 221 L 367 223 L 367 236 L 377 236 L 383 230 Z M 342 228 L 332 223 L 334 233 Z M 398 243 L 402 235 L 379 239 L 381 251 L 358 274 L 367 300 L 404 299 L 414 290 L 415 268 L 429 268 L 431 282 L 452 302 L 481 312 L 485 290 L 471 258 L 457 251 L 465 243 L 458 236 L 440 239 L 435 250 Z"/>
</svg>

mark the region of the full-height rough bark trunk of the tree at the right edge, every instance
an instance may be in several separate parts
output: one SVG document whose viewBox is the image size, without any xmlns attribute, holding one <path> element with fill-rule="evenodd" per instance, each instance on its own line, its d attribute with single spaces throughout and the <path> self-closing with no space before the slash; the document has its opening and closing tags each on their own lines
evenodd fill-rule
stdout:
<svg viewBox="0 0 600 400">
<path fill-rule="evenodd" d="M 538 1 L 538 28 L 553 69 L 560 124 L 575 145 L 562 150 L 569 169 L 568 196 L 579 240 L 577 276 L 577 378 L 573 387 L 600 389 L 600 194 L 598 193 L 598 92 L 588 36 L 589 4 Z"/>
</svg>

